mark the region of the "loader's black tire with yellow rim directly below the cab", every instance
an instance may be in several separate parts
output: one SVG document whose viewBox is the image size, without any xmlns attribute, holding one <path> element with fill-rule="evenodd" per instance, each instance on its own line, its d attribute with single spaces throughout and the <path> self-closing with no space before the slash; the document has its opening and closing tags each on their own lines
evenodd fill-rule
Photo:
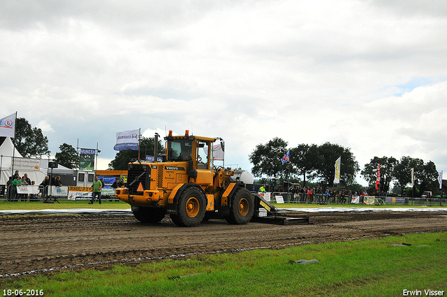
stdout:
<svg viewBox="0 0 447 297">
<path fill-rule="evenodd" d="M 178 214 L 170 215 L 170 218 L 177 226 L 197 226 L 205 217 L 206 207 L 202 192 L 196 187 L 189 187 L 180 194 Z"/>
</svg>

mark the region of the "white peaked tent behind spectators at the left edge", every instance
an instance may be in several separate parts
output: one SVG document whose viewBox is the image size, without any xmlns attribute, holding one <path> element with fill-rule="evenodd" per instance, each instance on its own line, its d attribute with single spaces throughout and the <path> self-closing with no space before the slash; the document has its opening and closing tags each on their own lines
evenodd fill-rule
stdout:
<svg viewBox="0 0 447 297">
<path fill-rule="evenodd" d="M 23 158 L 9 137 L 4 138 L 0 145 L 0 166 L 0 184 L 6 184 L 16 170 L 19 171 L 20 176 L 27 173 L 28 178 L 31 181 L 34 180 L 36 184 L 40 184 L 47 175 L 47 169 L 41 168 L 41 159 Z"/>
</svg>

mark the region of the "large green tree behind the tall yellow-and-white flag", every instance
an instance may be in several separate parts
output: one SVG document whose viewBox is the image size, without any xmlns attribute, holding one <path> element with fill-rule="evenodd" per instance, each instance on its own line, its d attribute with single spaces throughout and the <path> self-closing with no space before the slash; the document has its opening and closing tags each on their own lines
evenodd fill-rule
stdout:
<svg viewBox="0 0 447 297">
<path fill-rule="evenodd" d="M 320 178 L 329 187 L 334 185 L 335 161 L 342 157 L 340 166 L 340 184 L 350 186 L 356 181 L 356 174 L 360 170 L 358 161 L 349 147 L 342 147 L 332 143 L 318 146 L 318 164 L 316 164 L 316 177 Z"/>
</svg>

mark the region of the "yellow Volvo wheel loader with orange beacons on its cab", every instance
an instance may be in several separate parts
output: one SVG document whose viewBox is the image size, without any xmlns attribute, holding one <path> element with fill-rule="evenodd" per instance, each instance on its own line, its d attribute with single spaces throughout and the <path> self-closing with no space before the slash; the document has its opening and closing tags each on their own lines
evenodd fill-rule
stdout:
<svg viewBox="0 0 447 297">
<path fill-rule="evenodd" d="M 163 161 L 131 162 L 127 187 L 116 191 L 117 198 L 132 206 L 136 219 L 156 223 L 169 214 L 179 226 L 197 226 L 213 218 L 247 224 L 257 216 L 261 196 L 233 181 L 234 171 L 214 167 L 212 148 L 217 138 L 189 136 L 186 130 L 184 136 L 169 131 L 165 140 Z M 155 143 L 158 156 L 158 134 Z"/>
</svg>

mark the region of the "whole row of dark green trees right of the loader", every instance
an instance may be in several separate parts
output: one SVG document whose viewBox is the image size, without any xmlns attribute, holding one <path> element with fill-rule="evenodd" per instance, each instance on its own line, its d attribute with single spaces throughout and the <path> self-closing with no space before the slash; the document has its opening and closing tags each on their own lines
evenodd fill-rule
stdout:
<svg viewBox="0 0 447 297">
<path fill-rule="evenodd" d="M 282 164 L 281 158 L 290 152 L 290 161 Z M 273 138 L 265 144 L 256 145 L 249 154 L 249 161 L 253 164 L 251 173 L 262 178 L 267 175 L 279 177 L 290 182 L 317 181 L 323 187 L 334 187 L 335 162 L 341 157 L 340 185 L 342 187 L 358 187 L 356 175 L 360 171 L 358 161 L 349 147 L 333 143 L 323 145 L 308 145 L 302 143 L 296 147 L 288 148 L 288 142 L 281 138 Z M 421 159 L 402 157 L 397 160 L 393 157 L 374 157 L 365 164 L 360 172 L 362 178 L 367 180 L 370 189 L 375 189 L 377 168 L 381 165 L 381 182 L 379 190 L 388 192 L 392 183 L 397 186 L 400 193 L 411 196 L 420 196 L 424 191 L 438 192 L 438 172 L 432 161 L 424 163 Z M 414 187 L 407 189 L 411 184 L 411 168 L 413 168 Z M 412 193 L 413 192 L 413 193 Z"/>
</svg>

